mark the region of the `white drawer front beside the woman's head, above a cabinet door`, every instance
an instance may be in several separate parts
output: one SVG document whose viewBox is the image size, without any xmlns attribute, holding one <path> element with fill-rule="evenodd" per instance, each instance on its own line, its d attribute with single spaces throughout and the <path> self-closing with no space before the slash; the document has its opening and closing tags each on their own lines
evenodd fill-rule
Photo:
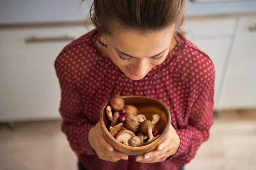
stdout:
<svg viewBox="0 0 256 170">
<path fill-rule="evenodd" d="M 236 18 L 185 20 L 182 30 L 186 37 L 232 36 L 236 28 Z"/>
</svg>

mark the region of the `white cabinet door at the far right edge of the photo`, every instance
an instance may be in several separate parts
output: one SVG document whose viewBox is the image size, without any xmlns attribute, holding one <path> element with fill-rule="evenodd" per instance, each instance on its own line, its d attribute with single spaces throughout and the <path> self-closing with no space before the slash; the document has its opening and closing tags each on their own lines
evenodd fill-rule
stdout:
<svg viewBox="0 0 256 170">
<path fill-rule="evenodd" d="M 239 19 L 218 107 L 256 107 L 256 17 Z"/>
</svg>

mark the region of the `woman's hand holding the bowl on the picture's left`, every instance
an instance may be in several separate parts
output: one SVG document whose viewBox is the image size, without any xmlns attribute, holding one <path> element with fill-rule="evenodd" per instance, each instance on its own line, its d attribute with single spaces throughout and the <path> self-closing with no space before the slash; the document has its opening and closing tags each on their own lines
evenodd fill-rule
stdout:
<svg viewBox="0 0 256 170">
<path fill-rule="evenodd" d="M 120 159 L 127 160 L 128 155 L 120 153 L 109 144 L 102 134 L 99 122 L 90 129 L 88 133 L 90 146 L 95 150 L 100 159 L 105 161 L 116 162 Z"/>
</svg>

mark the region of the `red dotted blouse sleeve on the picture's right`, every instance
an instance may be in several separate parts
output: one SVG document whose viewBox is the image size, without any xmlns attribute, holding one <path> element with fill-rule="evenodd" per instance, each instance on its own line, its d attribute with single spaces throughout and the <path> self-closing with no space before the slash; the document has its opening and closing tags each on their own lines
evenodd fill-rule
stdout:
<svg viewBox="0 0 256 170">
<path fill-rule="evenodd" d="M 214 122 L 214 65 L 202 76 L 205 77 L 209 72 L 213 76 L 204 83 L 201 92 L 192 104 L 187 127 L 176 130 L 180 136 L 180 147 L 177 153 L 169 159 L 178 163 L 182 162 L 183 164 L 180 166 L 190 162 L 195 157 L 201 144 L 209 139 L 209 130 Z"/>
</svg>

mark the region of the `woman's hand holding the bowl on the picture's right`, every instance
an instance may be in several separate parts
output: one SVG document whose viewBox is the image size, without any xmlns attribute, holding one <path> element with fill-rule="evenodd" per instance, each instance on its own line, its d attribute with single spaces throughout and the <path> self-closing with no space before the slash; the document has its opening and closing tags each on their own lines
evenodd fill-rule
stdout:
<svg viewBox="0 0 256 170">
<path fill-rule="evenodd" d="M 161 144 L 157 146 L 157 149 L 152 152 L 145 153 L 144 156 L 136 156 L 136 161 L 142 163 L 163 162 L 169 156 L 174 155 L 177 152 L 179 146 L 180 136 L 171 124 L 166 138 Z"/>
</svg>

